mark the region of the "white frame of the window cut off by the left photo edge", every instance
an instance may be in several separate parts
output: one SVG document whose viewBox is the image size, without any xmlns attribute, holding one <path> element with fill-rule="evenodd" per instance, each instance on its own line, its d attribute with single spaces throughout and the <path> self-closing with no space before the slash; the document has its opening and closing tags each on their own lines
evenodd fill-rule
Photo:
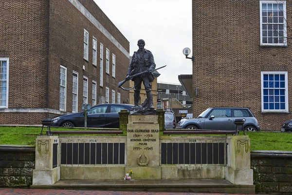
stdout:
<svg viewBox="0 0 292 195">
<path fill-rule="evenodd" d="M 2 77 L 2 61 L 6 61 L 6 73 L 5 73 L 5 79 Z M 3 74 L 4 75 L 4 74 Z M 3 86 L 0 85 L 0 108 L 8 108 L 8 87 L 9 87 L 9 58 L 0 58 L 0 81 L 1 83 L 4 83 L 6 81 L 6 91 L 2 92 Z M 2 98 L 3 94 L 5 94 L 5 105 L 2 104 Z"/>
</svg>

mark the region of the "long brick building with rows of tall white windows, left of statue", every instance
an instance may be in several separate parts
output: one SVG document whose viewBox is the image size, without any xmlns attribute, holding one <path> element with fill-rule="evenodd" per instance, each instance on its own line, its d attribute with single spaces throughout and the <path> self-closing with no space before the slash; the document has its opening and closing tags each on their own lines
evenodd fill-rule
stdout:
<svg viewBox="0 0 292 195">
<path fill-rule="evenodd" d="M 129 41 L 93 0 L 5 0 L 0 9 L 0 124 L 128 103 L 117 85 Z"/>
</svg>

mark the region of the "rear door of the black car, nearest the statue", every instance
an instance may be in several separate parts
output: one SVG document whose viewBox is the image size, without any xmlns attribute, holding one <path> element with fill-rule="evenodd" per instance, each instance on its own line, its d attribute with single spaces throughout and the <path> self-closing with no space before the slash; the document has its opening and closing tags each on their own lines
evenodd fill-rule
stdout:
<svg viewBox="0 0 292 195">
<path fill-rule="evenodd" d="M 121 110 L 128 110 L 125 106 L 123 105 L 115 105 L 112 104 L 110 105 L 108 117 L 106 118 L 106 127 L 108 128 L 120 128 L 120 116 L 119 112 Z"/>
</svg>

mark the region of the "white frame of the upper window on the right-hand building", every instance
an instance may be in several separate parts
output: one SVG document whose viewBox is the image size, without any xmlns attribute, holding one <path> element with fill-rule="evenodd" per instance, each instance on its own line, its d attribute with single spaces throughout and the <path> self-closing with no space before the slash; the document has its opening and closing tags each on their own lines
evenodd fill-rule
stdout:
<svg viewBox="0 0 292 195">
<path fill-rule="evenodd" d="M 265 26 L 265 24 L 267 24 L 267 26 L 265 26 L 265 28 L 267 27 L 267 30 L 269 29 L 269 25 L 273 25 L 273 27 L 271 26 L 271 28 L 274 28 L 274 25 L 275 24 L 282 24 L 282 23 L 279 23 L 279 22 L 275 22 L 274 23 L 274 21 L 272 21 L 272 22 L 269 22 L 268 20 L 269 19 L 272 19 L 272 20 L 274 20 L 274 18 L 277 18 L 276 16 L 274 16 L 274 13 L 273 12 L 271 12 L 271 14 L 272 14 L 272 16 L 271 17 L 269 17 L 269 16 L 267 16 L 267 22 L 264 22 L 263 21 L 263 17 L 265 17 L 265 16 L 263 16 L 263 10 L 262 10 L 262 4 L 263 3 L 271 3 L 271 4 L 282 4 L 283 3 L 283 17 L 284 17 L 284 20 L 283 20 L 283 26 L 284 26 L 284 28 L 283 28 L 283 38 L 284 38 L 284 42 L 283 43 L 265 43 L 265 42 L 263 42 L 263 26 Z M 287 45 L 287 17 L 286 17 L 286 1 L 285 0 L 260 0 L 260 3 L 259 3 L 260 5 L 260 45 L 271 45 L 271 46 L 286 46 Z M 267 10 L 268 10 L 268 8 L 267 8 Z M 267 15 L 268 15 L 268 13 L 269 13 L 269 11 L 267 11 Z M 277 12 L 276 12 L 277 13 Z M 270 15 L 271 15 L 270 14 Z M 278 27 L 276 27 L 276 28 L 278 28 Z M 274 36 L 274 30 L 275 30 L 275 28 L 274 29 L 272 29 L 272 30 L 270 30 L 270 31 L 272 31 L 272 34 L 273 34 L 273 36 Z M 277 30 L 277 29 L 276 29 Z M 268 32 L 269 31 L 267 31 L 267 39 L 269 38 L 268 36 Z M 279 35 L 279 33 L 276 33 L 276 35 Z M 270 36 L 270 38 L 271 38 L 271 36 Z M 274 41 L 274 40 L 273 40 Z"/>
</svg>

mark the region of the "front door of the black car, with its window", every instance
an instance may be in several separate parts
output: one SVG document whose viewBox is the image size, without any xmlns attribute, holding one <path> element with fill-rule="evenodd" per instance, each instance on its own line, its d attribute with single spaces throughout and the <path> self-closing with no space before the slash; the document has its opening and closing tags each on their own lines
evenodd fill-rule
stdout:
<svg viewBox="0 0 292 195">
<path fill-rule="evenodd" d="M 102 104 L 91 108 L 87 114 L 87 126 L 104 127 L 106 125 L 108 107 L 109 105 Z"/>
</svg>

